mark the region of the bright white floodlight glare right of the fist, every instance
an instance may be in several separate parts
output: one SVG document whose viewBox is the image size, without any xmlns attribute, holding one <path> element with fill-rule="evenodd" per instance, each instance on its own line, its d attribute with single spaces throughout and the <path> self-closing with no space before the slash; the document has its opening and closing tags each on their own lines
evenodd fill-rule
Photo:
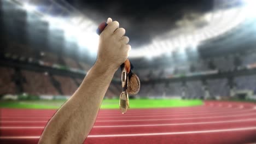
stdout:
<svg viewBox="0 0 256 144">
<path fill-rule="evenodd" d="M 252 1 L 256 3 L 256 0 Z M 151 58 L 164 55 L 165 53 L 170 53 L 170 49 L 168 50 L 165 46 L 162 46 L 163 43 L 171 44 L 171 51 L 184 52 L 187 48 L 196 51 L 197 47 L 202 41 L 218 37 L 219 35 L 230 31 L 231 29 L 240 25 L 240 23 L 244 22 L 247 17 L 244 9 L 245 8 L 243 7 L 238 7 L 226 10 L 212 11 L 212 13 L 203 15 L 208 21 L 208 24 L 206 26 L 197 28 L 192 33 L 180 32 L 174 37 L 172 32 L 169 32 L 170 35 L 165 35 L 164 37 L 156 38 L 156 40 L 153 40 L 154 47 L 161 47 L 161 50 L 159 50 L 160 48 L 158 48 L 158 50 L 147 50 L 147 52 L 143 53 L 138 52 L 138 50 L 144 49 L 143 47 L 153 45 L 153 43 L 151 43 L 148 45 L 144 45 L 143 47 L 138 47 L 137 49 L 132 49 L 130 52 L 130 57 Z M 174 31 L 177 31 L 177 29 L 174 29 Z M 159 39 L 161 39 L 161 42 L 159 42 Z"/>
</svg>

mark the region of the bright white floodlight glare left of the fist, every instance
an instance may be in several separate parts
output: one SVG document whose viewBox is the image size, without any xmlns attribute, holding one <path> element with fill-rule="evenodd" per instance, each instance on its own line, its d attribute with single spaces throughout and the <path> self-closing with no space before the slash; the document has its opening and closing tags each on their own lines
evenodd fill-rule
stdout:
<svg viewBox="0 0 256 144">
<path fill-rule="evenodd" d="M 28 13 L 33 13 L 37 7 L 24 2 L 22 8 Z M 83 15 L 65 19 L 63 17 L 52 17 L 44 15 L 42 20 L 49 23 L 49 31 L 60 29 L 64 32 L 66 41 L 78 44 L 81 51 L 88 50 L 91 55 L 95 55 L 98 46 L 98 35 L 96 34 L 97 25 Z"/>
</svg>

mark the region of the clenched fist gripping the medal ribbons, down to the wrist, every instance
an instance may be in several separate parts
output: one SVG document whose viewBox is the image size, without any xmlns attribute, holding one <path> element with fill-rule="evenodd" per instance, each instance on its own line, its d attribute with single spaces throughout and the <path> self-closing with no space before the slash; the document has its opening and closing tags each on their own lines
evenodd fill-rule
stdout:
<svg viewBox="0 0 256 144">
<path fill-rule="evenodd" d="M 107 23 L 100 34 L 97 63 L 117 70 L 128 58 L 131 46 L 128 44 L 129 38 L 124 36 L 125 29 L 119 28 L 117 21 L 108 18 Z"/>
</svg>

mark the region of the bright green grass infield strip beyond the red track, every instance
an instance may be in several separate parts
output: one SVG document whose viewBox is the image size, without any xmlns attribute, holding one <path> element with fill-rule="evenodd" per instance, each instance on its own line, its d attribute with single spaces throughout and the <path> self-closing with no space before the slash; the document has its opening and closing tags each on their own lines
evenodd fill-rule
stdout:
<svg viewBox="0 0 256 144">
<path fill-rule="evenodd" d="M 17 109 L 59 109 L 65 100 L 0 101 L 0 107 Z M 202 105 L 202 100 L 130 99 L 130 109 Z M 104 99 L 101 109 L 119 109 L 118 99 Z"/>
</svg>

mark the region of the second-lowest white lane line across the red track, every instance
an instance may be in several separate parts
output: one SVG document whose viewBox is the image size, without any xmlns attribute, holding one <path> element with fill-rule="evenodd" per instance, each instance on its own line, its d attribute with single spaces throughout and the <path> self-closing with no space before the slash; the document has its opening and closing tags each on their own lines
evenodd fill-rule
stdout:
<svg viewBox="0 0 256 144">
<path fill-rule="evenodd" d="M 102 125 L 94 126 L 93 128 L 119 128 L 119 127 L 160 127 L 172 125 L 197 125 L 197 124 L 216 124 L 216 123 L 237 123 L 256 121 L 256 118 L 236 119 L 231 121 L 212 121 L 212 122 L 197 122 L 197 123 L 168 123 L 168 124 L 141 124 L 141 125 Z M 0 127 L 0 129 L 43 129 L 44 127 Z"/>
</svg>

